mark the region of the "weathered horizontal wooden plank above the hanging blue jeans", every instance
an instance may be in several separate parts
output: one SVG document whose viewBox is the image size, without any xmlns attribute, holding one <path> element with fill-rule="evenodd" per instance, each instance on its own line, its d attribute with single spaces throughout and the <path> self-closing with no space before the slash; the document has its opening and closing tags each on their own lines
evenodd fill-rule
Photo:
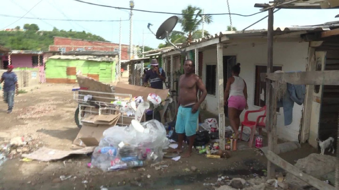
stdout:
<svg viewBox="0 0 339 190">
<path fill-rule="evenodd" d="M 332 71 L 305 71 L 292 73 L 261 73 L 261 81 L 284 80 L 291 84 L 305 85 L 339 85 L 339 70 Z"/>
</svg>

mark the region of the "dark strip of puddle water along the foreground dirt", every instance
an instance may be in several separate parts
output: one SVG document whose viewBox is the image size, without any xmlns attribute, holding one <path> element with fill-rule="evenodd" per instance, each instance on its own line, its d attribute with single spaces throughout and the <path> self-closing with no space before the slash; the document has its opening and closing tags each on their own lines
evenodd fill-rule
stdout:
<svg viewBox="0 0 339 190">
<path fill-rule="evenodd" d="M 224 171 L 213 171 L 206 173 L 198 174 L 188 174 L 188 175 L 179 175 L 168 178 L 156 178 L 153 179 L 153 182 L 141 182 L 141 187 L 133 186 L 131 184 L 126 184 L 125 186 L 111 187 L 109 190 L 134 190 L 134 189 L 162 189 L 164 187 L 170 186 L 180 186 L 180 185 L 190 185 L 192 183 L 206 183 L 206 179 L 210 179 L 215 183 L 218 178 L 218 174 L 223 176 L 228 176 L 228 178 L 241 178 L 246 175 L 258 174 L 260 176 L 264 175 L 262 170 L 224 170 Z"/>
</svg>

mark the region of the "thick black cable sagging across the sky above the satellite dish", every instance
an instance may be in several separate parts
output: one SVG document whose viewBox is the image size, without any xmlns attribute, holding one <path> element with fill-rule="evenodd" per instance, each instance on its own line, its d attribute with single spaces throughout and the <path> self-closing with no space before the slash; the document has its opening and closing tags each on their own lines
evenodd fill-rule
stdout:
<svg viewBox="0 0 339 190">
<path fill-rule="evenodd" d="M 90 2 L 86 2 L 86 1 L 81 1 L 81 0 L 74 0 L 74 1 L 78 1 L 81 3 L 87 3 L 90 5 L 97 5 L 97 6 L 102 6 L 102 7 L 109 7 L 109 8 L 116 8 L 116 9 L 125 9 L 125 10 L 131 10 L 132 8 L 124 8 L 124 7 L 114 7 L 114 6 L 109 6 L 109 5 L 100 5 L 100 4 L 96 4 L 96 3 L 90 3 Z M 158 12 L 158 11 L 151 11 L 151 10 L 141 10 L 141 9 L 132 9 L 135 11 L 141 11 L 141 12 L 152 12 L 152 13 L 161 13 L 161 14 L 169 14 L 169 15 L 190 15 L 190 16 L 195 16 L 195 15 L 238 15 L 238 16 L 242 16 L 242 17 L 250 17 L 259 13 L 262 13 L 264 11 L 260 11 L 257 13 L 254 13 L 252 15 L 241 15 L 238 13 L 213 13 L 213 14 L 182 14 L 182 13 L 174 13 L 174 12 Z M 265 10 L 266 11 L 266 10 Z"/>
</svg>

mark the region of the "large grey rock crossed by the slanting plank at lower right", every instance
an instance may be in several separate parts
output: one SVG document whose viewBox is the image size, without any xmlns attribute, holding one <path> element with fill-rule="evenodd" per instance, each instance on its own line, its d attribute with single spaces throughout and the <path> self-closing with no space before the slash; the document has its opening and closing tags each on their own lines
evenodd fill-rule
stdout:
<svg viewBox="0 0 339 190">
<path fill-rule="evenodd" d="M 309 174 L 315 178 L 321 178 L 324 174 L 335 170 L 336 157 L 330 155 L 320 155 L 313 153 L 305 158 L 299 159 L 295 166 L 306 174 Z M 286 182 L 307 186 L 308 184 L 295 177 L 293 174 L 287 173 Z"/>
</svg>

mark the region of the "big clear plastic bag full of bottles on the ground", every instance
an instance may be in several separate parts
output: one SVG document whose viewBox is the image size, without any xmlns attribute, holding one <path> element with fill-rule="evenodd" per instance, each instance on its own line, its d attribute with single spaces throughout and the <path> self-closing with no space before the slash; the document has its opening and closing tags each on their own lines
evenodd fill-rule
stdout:
<svg viewBox="0 0 339 190">
<path fill-rule="evenodd" d="M 157 120 L 139 123 L 132 120 L 127 127 L 111 127 L 103 132 L 94 149 L 89 167 L 103 171 L 141 167 L 162 160 L 167 149 L 165 127 Z"/>
</svg>

